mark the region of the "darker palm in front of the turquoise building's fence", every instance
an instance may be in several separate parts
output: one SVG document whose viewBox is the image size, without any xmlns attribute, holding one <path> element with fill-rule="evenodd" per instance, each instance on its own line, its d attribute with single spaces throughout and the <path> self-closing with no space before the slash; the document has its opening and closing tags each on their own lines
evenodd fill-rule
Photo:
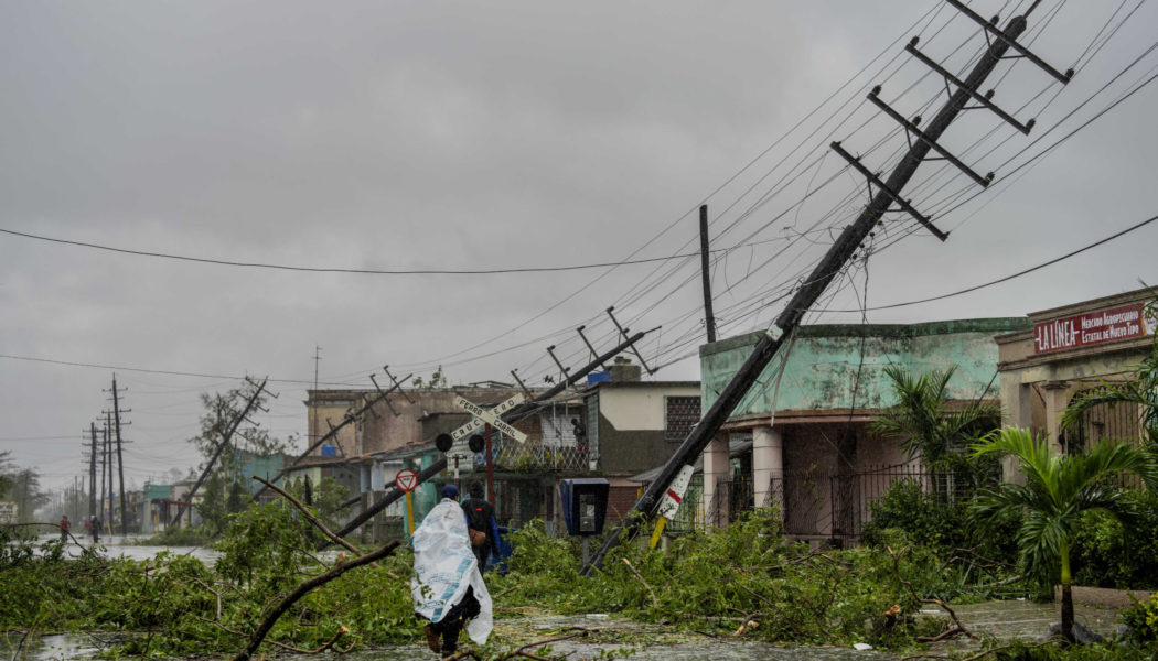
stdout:
<svg viewBox="0 0 1158 661">
<path fill-rule="evenodd" d="M 997 406 L 981 398 L 965 407 L 951 407 L 946 394 L 954 372 L 957 366 L 917 377 L 902 367 L 886 367 L 899 402 L 871 426 L 877 435 L 902 439 L 909 461 L 919 456 L 925 468 L 936 472 L 972 468 L 963 461 L 965 448 L 992 429 L 1001 417 Z"/>
</svg>

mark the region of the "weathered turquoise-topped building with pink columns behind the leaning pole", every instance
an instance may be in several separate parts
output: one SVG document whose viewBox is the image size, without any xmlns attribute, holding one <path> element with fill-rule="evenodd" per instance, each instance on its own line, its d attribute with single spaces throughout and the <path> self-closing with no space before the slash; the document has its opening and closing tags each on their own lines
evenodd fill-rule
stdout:
<svg viewBox="0 0 1158 661">
<path fill-rule="evenodd" d="M 996 402 L 992 338 L 1028 328 L 1025 318 L 801 326 L 705 449 L 704 519 L 723 523 L 738 509 L 775 504 L 791 535 L 856 538 L 868 502 L 891 475 L 909 470 L 896 439 L 867 431 L 893 404 L 885 368 L 922 374 L 955 366 L 951 399 Z M 701 347 L 705 410 L 761 335 Z M 731 456 L 730 441 L 750 441 L 750 454 Z"/>
</svg>

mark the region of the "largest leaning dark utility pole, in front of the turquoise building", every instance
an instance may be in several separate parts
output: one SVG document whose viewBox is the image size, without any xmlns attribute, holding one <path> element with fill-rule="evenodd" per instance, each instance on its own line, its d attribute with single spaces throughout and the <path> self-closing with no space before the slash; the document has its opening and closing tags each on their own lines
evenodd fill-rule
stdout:
<svg viewBox="0 0 1158 661">
<path fill-rule="evenodd" d="M 950 0 L 950 2 L 957 6 L 954 0 Z M 740 366 L 732 381 L 724 387 L 724 390 L 719 394 L 712 406 L 704 413 L 688 438 L 684 439 L 672 458 L 664 465 L 660 473 L 652 480 L 643 495 L 639 497 L 639 500 L 628 512 L 628 515 L 624 516 L 618 529 L 607 536 L 603 545 L 592 557 L 591 563 L 582 567 L 580 574 L 591 575 L 596 567 L 602 565 L 607 552 L 617 545 L 621 538 L 635 536 L 644 520 L 654 512 L 660 497 L 666 492 L 672 480 L 675 479 L 676 473 L 684 465 L 692 464 L 696 457 L 704 451 L 704 448 L 716 436 L 720 426 L 731 416 L 735 405 L 748 392 L 760 374 L 768 367 L 768 363 L 771 362 L 772 357 L 779 350 L 780 345 L 800 325 L 804 314 L 816 302 L 829 282 L 844 269 L 852 255 L 859 249 L 862 242 L 868 236 L 868 233 L 873 230 L 881 216 L 889 211 L 889 206 L 893 203 L 899 203 L 903 211 L 911 213 L 911 206 L 909 206 L 908 200 L 900 197 L 900 191 L 913 178 L 917 167 L 925 160 L 936 140 L 940 138 L 953 119 L 966 109 L 966 104 L 973 98 L 970 90 L 976 90 L 984 82 L 985 78 L 994 71 L 994 67 L 997 66 L 997 63 L 1001 61 L 1002 57 L 1010 49 L 1010 45 L 1016 43 L 1017 37 L 1025 31 L 1025 16 L 1014 16 L 1004 31 L 1002 31 L 1001 38 L 994 39 L 990 43 L 985 53 L 965 79 L 963 85 L 950 96 L 945 105 L 941 107 L 936 117 L 923 130 L 919 139 L 911 142 L 908 153 L 897 163 L 892 175 L 889 175 L 888 181 L 884 182 L 882 186 L 878 186 L 875 194 L 873 194 L 871 201 L 860 212 L 856 221 L 844 228 L 833 247 L 829 248 L 808 278 L 800 285 L 800 288 L 789 301 L 784 311 L 776 317 L 776 322 L 753 348 L 752 355 Z M 1017 50 L 1023 51 L 1024 49 L 1018 47 Z M 874 90 L 870 96 L 875 96 L 875 94 L 877 91 Z M 834 150 L 838 153 L 843 152 L 838 142 L 834 142 L 831 146 Z M 924 216 L 918 216 L 918 221 L 922 221 L 922 225 L 926 227 L 931 225 Z"/>
</svg>

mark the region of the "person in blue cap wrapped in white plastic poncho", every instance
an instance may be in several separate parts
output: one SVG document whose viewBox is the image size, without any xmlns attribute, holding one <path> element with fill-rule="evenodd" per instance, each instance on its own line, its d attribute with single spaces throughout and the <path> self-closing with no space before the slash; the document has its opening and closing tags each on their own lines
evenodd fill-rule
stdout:
<svg viewBox="0 0 1158 661">
<path fill-rule="evenodd" d="M 478 559 L 470 548 L 467 517 L 459 506 L 459 489 L 442 487 L 442 501 L 415 530 L 415 575 L 410 593 L 415 612 L 428 619 L 426 641 L 431 651 L 455 653 L 463 624 L 475 642 L 491 634 L 491 595 L 483 583 Z"/>
</svg>

